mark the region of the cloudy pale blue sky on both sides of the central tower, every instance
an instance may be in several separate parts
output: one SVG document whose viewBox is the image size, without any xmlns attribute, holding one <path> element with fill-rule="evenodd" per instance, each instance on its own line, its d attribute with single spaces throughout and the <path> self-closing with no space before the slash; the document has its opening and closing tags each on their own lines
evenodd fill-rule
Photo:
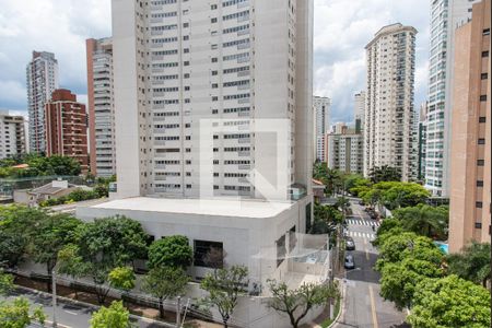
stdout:
<svg viewBox="0 0 492 328">
<path fill-rule="evenodd" d="M 332 124 L 353 119 L 353 95 L 365 89 L 364 46 L 397 22 L 419 31 L 415 107 L 425 101 L 430 0 L 314 3 L 314 94 L 332 99 Z M 60 87 L 86 102 L 85 39 L 110 36 L 110 0 L 0 0 L 0 109 L 25 114 L 25 67 L 33 50 L 55 52 Z"/>
</svg>

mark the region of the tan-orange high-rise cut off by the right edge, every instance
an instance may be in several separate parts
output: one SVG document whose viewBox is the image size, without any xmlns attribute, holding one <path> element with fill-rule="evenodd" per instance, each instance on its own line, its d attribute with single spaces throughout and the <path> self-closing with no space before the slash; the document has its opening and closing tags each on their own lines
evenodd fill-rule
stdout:
<svg viewBox="0 0 492 328">
<path fill-rule="evenodd" d="M 449 250 L 490 243 L 491 222 L 491 1 L 473 4 L 470 23 L 456 30 L 450 140 Z"/>
</svg>

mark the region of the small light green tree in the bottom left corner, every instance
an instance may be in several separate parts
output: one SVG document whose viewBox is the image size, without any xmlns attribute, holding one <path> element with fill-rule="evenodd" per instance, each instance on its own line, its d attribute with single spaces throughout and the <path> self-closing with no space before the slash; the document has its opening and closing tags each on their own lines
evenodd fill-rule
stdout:
<svg viewBox="0 0 492 328">
<path fill-rule="evenodd" d="M 17 297 L 12 302 L 0 302 L 0 327 L 2 328 L 26 328 L 34 321 L 44 325 L 46 315 L 40 306 L 30 314 L 30 303 L 26 298 Z"/>
</svg>

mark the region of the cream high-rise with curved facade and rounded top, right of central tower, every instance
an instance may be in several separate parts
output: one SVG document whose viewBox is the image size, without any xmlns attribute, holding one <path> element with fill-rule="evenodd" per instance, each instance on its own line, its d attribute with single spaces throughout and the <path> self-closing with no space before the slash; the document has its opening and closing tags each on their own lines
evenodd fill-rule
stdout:
<svg viewBox="0 0 492 328">
<path fill-rule="evenodd" d="M 417 177 L 415 34 L 400 23 L 384 26 L 365 47 L 365 176 L 374 166 L 388 165 L 399 168 L 403 180 Z"/>
</svg>

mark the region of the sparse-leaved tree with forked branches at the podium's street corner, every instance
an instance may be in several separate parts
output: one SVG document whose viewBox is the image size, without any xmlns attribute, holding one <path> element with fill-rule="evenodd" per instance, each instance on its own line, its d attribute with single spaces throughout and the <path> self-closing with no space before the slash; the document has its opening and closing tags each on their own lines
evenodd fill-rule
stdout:
<svg viewBox="0 0 492 328">
<path fill-rule="evenodd" d="M 340 296 L 335 284 L 304 283 L 296 290 L 289 290 L 284 282 L 269 280 L 268 285 L 272 294 L 269 306 L 288 314 L 293 328 L 298 327 L 313 307 L 326 304 L 328 298 Z"/>
</svg>

